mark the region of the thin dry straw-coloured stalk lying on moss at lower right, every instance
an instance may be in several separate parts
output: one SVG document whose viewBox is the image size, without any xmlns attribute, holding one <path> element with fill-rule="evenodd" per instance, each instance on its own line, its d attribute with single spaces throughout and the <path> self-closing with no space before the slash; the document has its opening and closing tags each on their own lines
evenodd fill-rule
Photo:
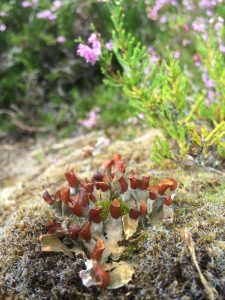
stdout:
<svg viewBox="0 0 225 300">
<path fill-rule="evenodd" d="M 216 290 L 211 287 L 211 284 L 206 280 L 206 278 L 202 274 L 202 271 L 199 267 L 199 264 L 198 264 L 198 261 L 197 261 L 196 255 L 195 255 L 195 247 L 194 247 L 195 243 L 192 239 L 191 233 L 188 231 L 187 228 L 184 228 L 184 229 L 180 229 L 180 234 L 181 234 L 181 237 L 183 238 L 183 240 L 188 245 L 188 248 L 189 248 L 191 256 L 192 256 L 193 263 L 194 263 L 194 265 L 195 265 L 195 267 L 196 267 L 196 269 L 199 273 L 201 283 L 202 283 L 202 285 L 204 286 L 204 288 L 206 290 L 206 293 L 208 295 L 208 299 L 214 300 L 215 299 L 214 292 L 216 292 Z"/>
</svg>

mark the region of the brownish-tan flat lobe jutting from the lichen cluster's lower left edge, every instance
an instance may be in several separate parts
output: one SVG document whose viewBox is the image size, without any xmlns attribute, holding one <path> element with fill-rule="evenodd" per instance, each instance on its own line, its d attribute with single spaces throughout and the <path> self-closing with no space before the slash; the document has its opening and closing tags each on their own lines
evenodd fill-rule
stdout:
<svg viewBox="0 0 225 300">
<path fill-rule="evenodd" d="M 56 234 L 42 234 L 40 236 L 42 252 L 63 252 L 64 254 L 73 257 L 70 249 L 60 241 Z"/>
</svg>

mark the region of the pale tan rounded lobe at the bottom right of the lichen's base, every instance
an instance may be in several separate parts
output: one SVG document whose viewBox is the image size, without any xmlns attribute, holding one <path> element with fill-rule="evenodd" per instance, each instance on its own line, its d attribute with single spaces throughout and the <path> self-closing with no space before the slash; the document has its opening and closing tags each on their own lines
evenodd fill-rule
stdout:
<svg viewBox="0 0 225 300">
<path fill-rule="evenodd" d="M 106 269 L 107 268 L 111 268 L 112 270 L 109 272 L 110 283 L 107 287 L 108 289 L 118 289 L 124 286 L 131 280 L 134 274 L 132 266 L 124 261 L 106 264 Z"/>
</svg>

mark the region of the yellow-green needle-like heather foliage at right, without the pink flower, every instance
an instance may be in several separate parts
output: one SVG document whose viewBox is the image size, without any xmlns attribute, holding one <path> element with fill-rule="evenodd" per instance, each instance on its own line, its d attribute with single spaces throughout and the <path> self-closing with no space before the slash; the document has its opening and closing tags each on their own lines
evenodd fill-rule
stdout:
<svg viewBox="0 0 225 300">
<path fill-rule="evenodd" d="M 176 155 L 170 153 L 171 147 L 168 147 L 168 142 L 156 142 L 155 149 L 161 154 L 161 157 L 183 159 L 189 147 L 188 133 L 191 134 L 194 144 L 197 144 L 198 147 L 202 145 L 201 137 L 197 137 L 190 129 L 190 124 L 199 124 L 197 118 L 201 111 L 200 108 L 205 107 L 203 105 L 205 91 L 192 88 L 188 76 L 169 50 L 163 61 L 157 61 L 150 65 L 150 55 L 145 46 L 124 29 L 125 15 L 122 0 L 110 1 L 109 10 L 114 27 L 112 32 L 113 52 L 120 68 L 117 71 L 112 70 L 112 54 L 103 53 L 101 63 L 105 75 L 104 81 L 106 84 L 121 87 L 135 111 L 143 112 L 145 120 L 150 126 L 161 128 L 166 139 L 175 141 Z M 221 53 L 215 49 L 215 45 L 208 45 L 208 47 L 209 49 L 203 49 L 202 52 L 203 54 L 206 52 L 206 56 L 209 55 L 206 59 L 206 67 L 210 78 L 216 83 L 217 91 L 221 93 L 223 108 L 220 110 L 218 120 L 212 115 L 207 117 L 207 121 L 211 118 L 215 129 L 212 131 L 212 135 L 206 137 L 203 146 L 204 155 L 209 146 L 221 139 L 221 132 L 217 133 L 217 125 L 224 121 L 225 116 L 225 63 Z M 210 58 L 212 59 L 210 60 Z M 221 66 L 223 66 L 222 70 Z M 208 126 L 209 123 L 207 122 L 206 125 Z M 154 151 L 153 157 L 155 161 L 159 161 L 156 151 Z"/>
</svg>

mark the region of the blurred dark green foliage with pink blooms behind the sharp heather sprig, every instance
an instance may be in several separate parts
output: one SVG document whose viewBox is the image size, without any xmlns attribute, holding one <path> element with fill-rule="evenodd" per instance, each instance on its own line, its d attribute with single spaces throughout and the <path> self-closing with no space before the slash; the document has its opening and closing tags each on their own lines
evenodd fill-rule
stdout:
<svg viewBox="0 0 225 300">
<path fill-rule="evenodd" d="M 225 7 L 223 1 L 216 1 L 207 10 L 203 0 L 201 5 L 197 2 L 124 1 L 126 27 L 149 47 L 152 59 L 163 58 L 168 46 L 195 89 L 207 89 L 197 65 L 192 24 L 199 17 L 224 17 Z M 1 0 L 2 136 L 18 128 L 69 136 L 82 127 L 80 120 L 90 111 L 95 111 L 100 128 L 130 120 L 129 99 L 103 85 L 98 64 L 90 66 L 76 54 L 75 40 L 86 41 L 92 23 L 108 41 L 112 24 L 102 1 Z"/>
</svg>

